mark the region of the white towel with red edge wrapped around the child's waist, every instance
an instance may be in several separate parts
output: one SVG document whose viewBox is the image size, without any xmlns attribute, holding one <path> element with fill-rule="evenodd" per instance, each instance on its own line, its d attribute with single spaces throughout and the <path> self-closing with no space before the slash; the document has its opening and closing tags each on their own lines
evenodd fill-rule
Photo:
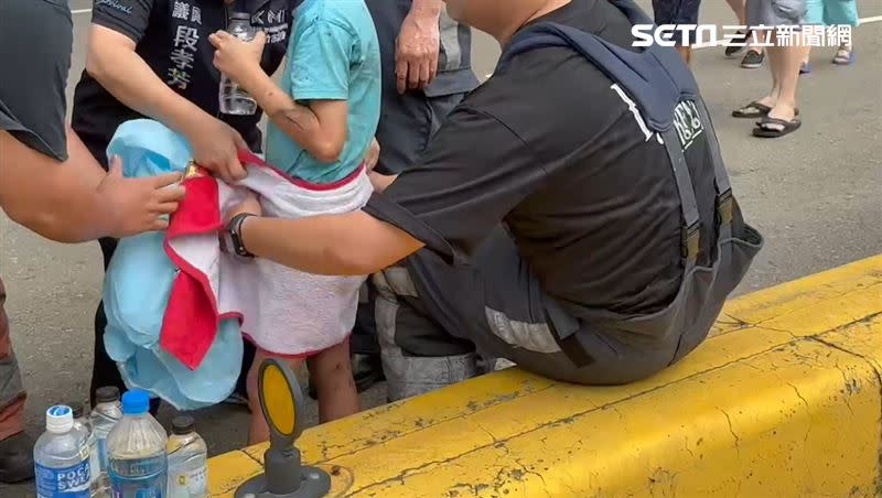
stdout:
<svg viewBox="0 0 882 498">
<path fill-rule="evenodd" d="M 248 177 L 232 187 L 195 166 L 187 195 L 174 215 L 165 250 L 181 273 L 165 312 L 162 345 L 195 368 L 214 339 L 220 318 L 236 316 L 243 334 L 261 349 L 305 357 L 346 339 L 355 324 L 358 290 L 366 277 L 326 277 L 269 260 L 243 260 L 220 251 L 217 229 L 224 213 L 247 191 L 260 196 L 263 216 L 302 218 L 349 213 L 373 193 L 364 167 L 333 184 L 291 178 L 257 156 L 243 153 Z"/>
</svg>

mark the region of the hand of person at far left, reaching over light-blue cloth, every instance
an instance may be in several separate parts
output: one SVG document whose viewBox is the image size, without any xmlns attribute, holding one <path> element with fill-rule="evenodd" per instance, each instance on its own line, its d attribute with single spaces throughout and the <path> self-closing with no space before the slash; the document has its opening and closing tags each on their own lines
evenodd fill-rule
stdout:
<svg viewBox="0 0 882 498">
<path fill-rule="evenodd" d="M 108 235 L 123 238 L 168 228 L 165 215 L 178 210 L 178 203 L 186 193 L 184 187 L 175 185 L 180 181 L 180 173 L 126 178 L 122 161 L 119 156 L 111 158 L 110 170 L 98 184 L 98 194 L 107 199 L 108 213 L 115 217 Z"/>
</svg>

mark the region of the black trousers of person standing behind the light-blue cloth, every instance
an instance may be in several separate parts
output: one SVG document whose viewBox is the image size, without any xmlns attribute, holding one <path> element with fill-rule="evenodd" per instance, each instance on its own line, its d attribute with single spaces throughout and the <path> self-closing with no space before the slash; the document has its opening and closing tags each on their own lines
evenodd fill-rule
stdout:
<svg viewBox="0 0 882 498">
<path fill-rule="evenodd" d="M 98 241 L 101 245 L 101 253 L 104 255 L 104 269 L 107 270 L 110 263 L 110 258 L 117 248 L 117 239 L 103 238 Z M 122 377 L 119 375 L 116 361 L 108 355 L 107 349 L 104 347 L 104 332 L 107 328 L 107 316 L 104 313 L 104 302 L 98 303 L 98 308 L 95 311 L 95 360 L 92 364 L 92 386 L 89 390 L 89 402 L 95 405 L 95 391 L 105 386 L 114 386 L 119 388 L 120 392 L 126 390 L 126 385 L 122 382 Z M 255 359 L 255 347 L 246 340 L 245 351 L 243 355 L 241 374 L 236 383 L 236 392 L 245 396 L 246 379 L 248 377 L 248 369 Z M 155 413 L 159 408 L 159 400 L 153 400 L 151 403 L 151 411 Z"/>
</svg>

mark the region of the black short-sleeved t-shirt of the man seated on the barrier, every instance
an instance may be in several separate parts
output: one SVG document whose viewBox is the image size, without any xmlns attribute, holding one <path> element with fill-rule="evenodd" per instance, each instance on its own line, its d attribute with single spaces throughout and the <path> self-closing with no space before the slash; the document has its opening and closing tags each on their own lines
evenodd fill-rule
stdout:
<svg viewBox="0 0 882 498">
<path fill-rule="evenodd" d="M 573 0 L 535 22 L 544 21 L 636 51 L 627 18 L 605 0 Z M 579 308 L 652 313 L 682 279 L 682 221 L 665 147 L 647 131 L 583 56 L 535 50 L 469 95 L 420 164 L 365 210 L 454 263 L 503 221 L 549 295 Z M 701 133 L 684 148 L 696 191 L 710 193 L 698 198 L 707 264 L 711 158 Z"/>
</svg>

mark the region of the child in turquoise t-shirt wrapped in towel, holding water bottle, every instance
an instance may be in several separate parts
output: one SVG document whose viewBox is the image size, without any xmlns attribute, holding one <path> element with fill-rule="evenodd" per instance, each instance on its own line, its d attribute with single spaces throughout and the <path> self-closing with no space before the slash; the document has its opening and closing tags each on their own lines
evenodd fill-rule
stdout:
<svg viewBox="0 0 882 498">
<path fill-rule="evenodd" d="M 258 64 L 266 35 L 244 43 L 218 32 L 209 40 L 217 48 L 215 66 L 246 89 L 270 118 L 268 163 L 288 173 L 298 186 L 308 191 L 304 202 L 310 204 L 311 213 L 321 215 L 361 208 L 369 196 L 369 192 L 365 195 L 364 182 L 370 188 L 363 161 L 372 145 L 380 111 L 379 44 L 364 2 L 304 0 L 297 8 L 281 88 Z M 304 281 L 310 282 L 309 279 Z M 343 288 L 351 292 L 351 285 Z M 263 304 L 261 302 L 261 306 Z M 324 350 L 298 350 L 297 344 L 298 336 L 326 331 L 323 322 L 335 320 L 329 315 L 336 314 L 340 322 L 340 316 L 351 314 L 354 321 L 355 310 L 344 308 L 349 304 L 355 303 L 342 296 L 338 311 L 313 310 L 310 315 L 314 317 L 304 320 L 310 326 L 251 337 L 258 346 L 248 383 L 254 413 L 251 443 L 269 439 L 257 397 L 257 369 L 266 357 L 288 358 L 295 369 L 308 357 L 310 376 L 319 391 L 322 422 L 358 410 L 347 338 L 353 324 L 348 323 L 349 328 L 345 331 L 335 329 L 342 342 Z M 332 325 L 332 328 L 340 327 Z"/>
</svg>

